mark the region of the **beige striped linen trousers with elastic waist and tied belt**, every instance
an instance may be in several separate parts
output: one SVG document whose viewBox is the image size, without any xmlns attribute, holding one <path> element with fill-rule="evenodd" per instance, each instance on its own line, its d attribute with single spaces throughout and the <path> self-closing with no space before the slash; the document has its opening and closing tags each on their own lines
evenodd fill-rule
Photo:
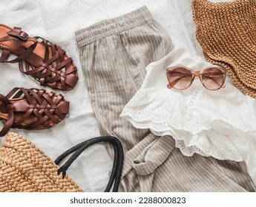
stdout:
<svg viewBox="0 0 256 207">
<path fill-rule="evenodd" d="M 255 191 L 237 162 L 186 157 L 171 136 L 158 137 L 119 118 L 140 88 L 145 67 L 174 49 L 147 7 L 79 30 L 76 40 L 100 133 L 119 138 L 124 147 L 124 191 Z"/>
</svg>

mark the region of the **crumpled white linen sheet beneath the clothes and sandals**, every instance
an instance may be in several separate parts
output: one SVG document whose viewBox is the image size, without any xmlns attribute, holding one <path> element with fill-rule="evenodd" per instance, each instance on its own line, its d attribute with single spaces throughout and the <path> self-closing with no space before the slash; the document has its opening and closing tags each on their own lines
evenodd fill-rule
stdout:
<svg viewBox="0 0 256 207">
<path fill-rule="evenodd" d="M 1 24 L 22 27 L 30 36 L 39 35 L 58 44 L 73 58 L 79 72 L 76 87 L 68 92 L 62 92 L 40 86 L 39 82 L 19 72 L 18 64 L 0 64 L 2 95 L 7 95 L 14 87 L 44 88 L 47 91 L 61 93 L 70 101 L 70 113 L 58 125 L 40 131 L 10 131 L 18 132 L 35 143 L 52 160 L 76 143 L 99 136 L 99 127 L 88 97 L 74 33 L 97 21 L 121 16 L 144 5 L 151 11 L 154 19 L 167 30 L 175 45 L 180 44 L 186 47 L 191 55 L 203 57 L 201 47 L 195 38 L 191 0 L 0 0 Z M 0 138 L 0 144 L 3 140 L 4 138 Z M 85 150 L 67 173 L 85 191 L 104 191 L 111 167 L 112 161 L 104 146 L 98 144 Z"/>
</svg>

